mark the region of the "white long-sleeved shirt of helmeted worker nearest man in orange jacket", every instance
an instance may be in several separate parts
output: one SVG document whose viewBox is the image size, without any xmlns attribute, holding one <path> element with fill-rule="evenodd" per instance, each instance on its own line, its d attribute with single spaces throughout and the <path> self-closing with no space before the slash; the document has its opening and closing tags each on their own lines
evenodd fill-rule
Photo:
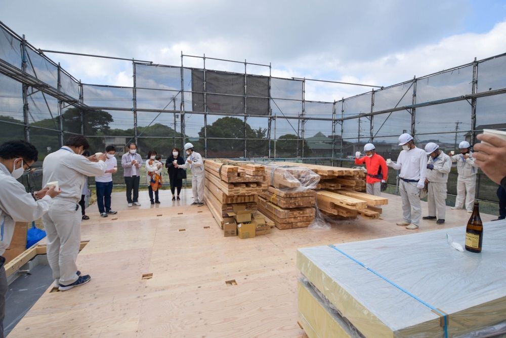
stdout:
<svg viewBox="0 0 506 338">
<path fill-rule="evenodd" d="M 397 158 L 397 163 L 392 162 L 390 166 L 396 170 L 401 170 L 399 173 L 401 178 L 425 181 L 427 153 L 424 149 L 417 147 L 403 150 Z"/>
</svg>

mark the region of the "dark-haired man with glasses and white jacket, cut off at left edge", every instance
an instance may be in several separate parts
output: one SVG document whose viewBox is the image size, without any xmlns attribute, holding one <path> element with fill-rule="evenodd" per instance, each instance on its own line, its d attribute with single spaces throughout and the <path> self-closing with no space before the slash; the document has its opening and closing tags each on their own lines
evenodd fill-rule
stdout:
<svg viewBox="0 0 506 338">
<path fill-rule="evenodd" d="M 4 337 L 7 277 L 5 250 L 11 244 L 16 222 L 31 222 L 40 218 L 53 204 L 60 192 L 55 187 L 29 194 L 17 179 L 37 161 L 37 149 L 25 141 L 8 141 L 0 145 L 0 337 Z M 25 226 L 26 228 L 26 226 Z"/>
</svg>

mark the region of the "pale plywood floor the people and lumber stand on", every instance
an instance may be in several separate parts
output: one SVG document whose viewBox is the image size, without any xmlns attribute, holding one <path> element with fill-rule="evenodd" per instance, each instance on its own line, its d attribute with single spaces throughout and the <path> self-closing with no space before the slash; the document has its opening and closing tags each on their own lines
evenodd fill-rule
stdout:
<svg viewBox="0 0 506 338">
<path fill-rule="evenodd" d="M 92 280 L 65 292 L 48 289 L 11 336 L 305 337 L 297 324 L 297 248 L 413 233 L 395 225 L 400 198 L 388 197 L 380 220 L 342 221 L 328 231 L 274 228 L 240 240 L 223 237 L 207 207 L 189 206 L 190 190 L 179 202 L 160 192 L 162 204 L 154 207 L 141 192 L 142 206 L 134 208 L 114 193 L 117 215 L 101 218 L 91 206 L 82 223 L 82 240 L 90 242 L 77 263 Z M 445 226 L 423 221 L 416 231 L 468 218 L 448 208 Z"/>
</svg>

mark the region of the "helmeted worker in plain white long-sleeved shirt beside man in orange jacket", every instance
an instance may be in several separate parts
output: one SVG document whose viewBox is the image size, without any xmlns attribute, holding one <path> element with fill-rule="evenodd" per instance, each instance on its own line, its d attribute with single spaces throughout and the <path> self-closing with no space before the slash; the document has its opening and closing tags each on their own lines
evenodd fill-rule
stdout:
<svg viewBox="0 0 506 338">
<path fill-rule="evenodd" d="M 425 187 L 427 155 L 424 149 L 414 145 L 413 136 L 404 133 L 399 136 L 402 151 L 397 163 L 387 161 L 389 167 L 400 170 L 399 192 L 401 193 L 403 221 L 398 226 L 406 229 L 418 229 L 421 218 L 420 189 Z"/>
</svg>

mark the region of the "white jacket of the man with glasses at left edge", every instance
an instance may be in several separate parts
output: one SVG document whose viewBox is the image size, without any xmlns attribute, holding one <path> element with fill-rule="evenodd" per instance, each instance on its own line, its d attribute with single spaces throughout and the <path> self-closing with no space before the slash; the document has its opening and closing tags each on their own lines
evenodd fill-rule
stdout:
<svg viewBox="0 0 506 338">
<path fill-rule="evenodd" d="M 44 215 L 53 200 L 49 195 L 35 201 L 0 163 L 0 255 L 9 247 L 16 222 L 31 222 Z"/>
</svg>

